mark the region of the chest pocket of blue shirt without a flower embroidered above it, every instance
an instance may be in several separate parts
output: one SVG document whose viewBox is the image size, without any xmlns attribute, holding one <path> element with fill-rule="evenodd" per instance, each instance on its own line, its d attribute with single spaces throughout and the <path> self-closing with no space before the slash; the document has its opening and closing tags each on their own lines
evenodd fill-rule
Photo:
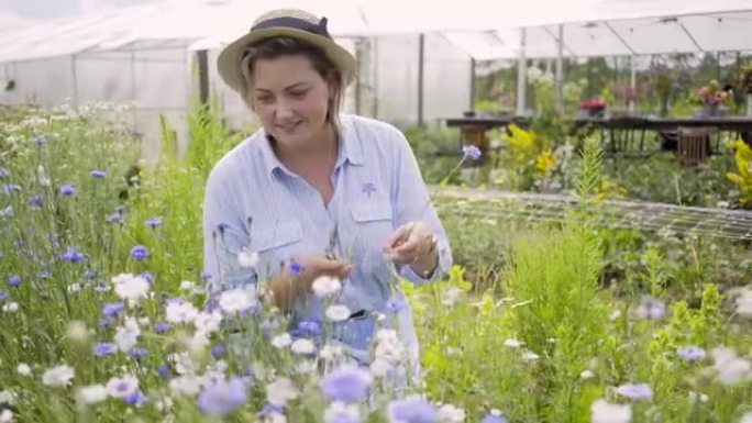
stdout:
<svg viewBox="0 0 752 423">
<path fill-rule="evenodd" d="M 256 271 L 267 276 L 300 253 L 303 238 L 302 227 L 297 220 L 278 222 L 266 227 L 251 230 L 251 249 L 258 254 Z"/>
</svg>

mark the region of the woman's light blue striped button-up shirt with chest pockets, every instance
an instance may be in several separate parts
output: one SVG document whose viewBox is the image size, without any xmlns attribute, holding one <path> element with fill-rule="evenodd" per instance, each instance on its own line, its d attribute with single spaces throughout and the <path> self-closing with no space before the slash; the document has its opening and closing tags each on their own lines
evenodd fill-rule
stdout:
<svg viewBox="0 0 752 423">
<path fill-rule="evenodd" d="M 374 335 L 374 312 L 389 315 L 397 304 L 395 321 L 417 360 L 410 307 L 401 293 L 390 292 L 389 282 L 396 276 L 414 283 L 441 278 L 452 264 L 446 234 L 405 135 L 390 124 L 362 116 L 342 115 L 341 122 L 329 207 L 319 191 L 278 160 L 263 130 L 217 164 L 207 182 L 203 209 L 203 266 L 211 275 L 208 294 L 211 300 L 226 289 L 263 281 L 295 256 L 323 255 L 336 225 L 336 254 L 355 265 L 339 302 L 353 312 L 365 311 L 366 318 L 344 322 L 332 337 L 365 353 Z M 395 268 L 383 256 L 389 235 L 418 220 L 431 225 L 439 241 L 439 266 L 429 279 L 409 266 Z M 258 254 L 255 268 L 240 266 L 237 254 L 243 249 Z M 321 321 L 322 308 L 309 296 L 296 305 L 294 320 Z"/>
</svg>

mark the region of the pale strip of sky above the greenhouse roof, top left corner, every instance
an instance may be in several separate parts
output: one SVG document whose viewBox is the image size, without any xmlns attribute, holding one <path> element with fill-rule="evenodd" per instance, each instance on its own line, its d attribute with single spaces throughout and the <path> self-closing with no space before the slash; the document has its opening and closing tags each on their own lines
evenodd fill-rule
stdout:
<svg viewBox="0 0 752 423">
<path fill-rule="evenodd" d="M 0 0 L 0 16 L 33 20 L 70 18 L 157 1 L 159 0 Z"/>
</svg>

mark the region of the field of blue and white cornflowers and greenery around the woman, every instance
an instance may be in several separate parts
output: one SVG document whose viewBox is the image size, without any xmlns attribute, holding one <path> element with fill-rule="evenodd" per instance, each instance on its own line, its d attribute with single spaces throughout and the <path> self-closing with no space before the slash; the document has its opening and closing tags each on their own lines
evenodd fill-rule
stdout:
<svg viewBox="0 0 752 423">
<path fill-rule="evenodd" d="M 121 112 L 2 111 L 0 422 L 752 422 L 749 246 L 595 229 L 591 144 L 563 224 L 442 216 L 450 275 L 397 283 L 412 378 L 386 316 L 369 367 L 323 342 L 336 280 L 298 327 L 257 291 L 207 307 L 203 183 L 243 136 L 198 111 L 147 166 Z"/>
</svg>

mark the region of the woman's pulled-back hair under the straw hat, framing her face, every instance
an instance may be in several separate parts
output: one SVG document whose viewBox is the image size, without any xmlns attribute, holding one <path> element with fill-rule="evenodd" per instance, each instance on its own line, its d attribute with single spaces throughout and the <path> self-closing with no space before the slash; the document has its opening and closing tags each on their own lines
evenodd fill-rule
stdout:
<svg viewBox="0 0 752 423">
<path fill-rule="evenodd" d="M 344 87 L 344 78 L 342 71 L 334 65 L 334 63 L 327 56 L 327 54 L 298 38 L 290 36 L 277 36 L 261 41 L 246 47 L 243 58 L 241 59 L 241 74 L 243 75 L 241 96 L 245 104 L 253 110 L 253 101 L 250 99 L 251 89 L 253 88 L 254 67 L 258 59 L 277 58 L 280 56 L 301 55 L 308 58 L 313 66 L 313 69 L 327 81 L 332 78 L 336 85 L 336 92 L 328 100 L 327 122 L 334 129 L 335 133 L 340 133 L 340 107 L 342 103 L 342 91 Z"/>
</svg>

